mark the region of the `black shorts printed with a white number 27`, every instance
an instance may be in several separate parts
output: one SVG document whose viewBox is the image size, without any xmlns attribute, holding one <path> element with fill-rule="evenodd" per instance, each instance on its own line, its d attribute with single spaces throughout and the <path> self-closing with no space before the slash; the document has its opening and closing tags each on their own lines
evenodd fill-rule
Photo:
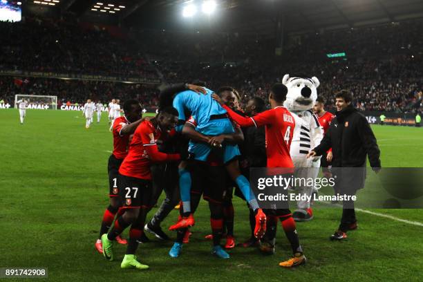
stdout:
<svg viewBox="0 0 423 282">
<path fill-rule="evenodd" d="M 119 175 L 120 200 L 122 209 L 151 209 L 153 186 L 151 180 Z"/>
</svg>

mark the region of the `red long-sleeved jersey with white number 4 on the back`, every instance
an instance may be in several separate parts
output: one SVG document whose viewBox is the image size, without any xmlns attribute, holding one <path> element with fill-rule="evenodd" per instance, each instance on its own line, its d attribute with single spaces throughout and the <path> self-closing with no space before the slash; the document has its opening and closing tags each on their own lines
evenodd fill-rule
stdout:
<svg viewBox="0 0 423 282">
<path fill-rule="evenodd" d="M 252 118 L 245 118 L 227 106 L 223 106 L 223 108 L 242 127 L 265 125 L 267 167 L 294 167 L 290 156 L 290 147 L 295 120 L 290 111 L 283 106 L 276 106 L 276 108 L 254 115 Z"/>
</svg>

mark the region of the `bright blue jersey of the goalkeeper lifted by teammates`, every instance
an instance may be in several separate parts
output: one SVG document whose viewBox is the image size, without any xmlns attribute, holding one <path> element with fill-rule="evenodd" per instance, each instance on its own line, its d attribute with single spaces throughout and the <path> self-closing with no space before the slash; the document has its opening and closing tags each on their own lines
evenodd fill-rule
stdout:
<svg viewBox="0 0 423 282">
<path fill-rule="evenodd" d="M 185 116 L 185 111 L 191 112 L 192 117 L 197 122 L 196 129 L 200 131 L 209 122 L 211 115 L 222 115 L 227 113 L 225 109 L 212 98 L 214 91 L 206 88 L 207 94 L 195 93 L 187 90 L 178 93 L 173 98 L 173 107 L 178 110 L 178 120 L 187 120 L 189 117 Z M 182 124 L 177 126 L 176 130 L 182 130 Z"/>
</svg>

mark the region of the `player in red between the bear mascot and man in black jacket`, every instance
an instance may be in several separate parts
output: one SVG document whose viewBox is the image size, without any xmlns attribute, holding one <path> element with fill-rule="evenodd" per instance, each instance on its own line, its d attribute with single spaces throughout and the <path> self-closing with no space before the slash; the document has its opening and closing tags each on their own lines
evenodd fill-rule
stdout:
<svg viewBox="0 0 423 282">
<path fill-rule="evenodd" d="M 313 106 L 313 112 L 315 115 L 317 115 L 317 118 L 319 118 L 319 124 L 323 128 L 324 133 L 326 134 L 329 129 L 330 122 L 332 122 L 332 118 L 334 118 L 335 115 L 329 113 L 328 111 L 325 111 L 325 102 L 322 97 L 317 97 L 316 103 Z M 326 176 L 326 178 L 332 177 L 332 173 L 330 173 L 330 169 L 328 169 L 331 161 L 332 149 L 329 149 L 326 156 L 323 156 L 320 162 L 323 174 L 324 176 Z"/>
</svg>

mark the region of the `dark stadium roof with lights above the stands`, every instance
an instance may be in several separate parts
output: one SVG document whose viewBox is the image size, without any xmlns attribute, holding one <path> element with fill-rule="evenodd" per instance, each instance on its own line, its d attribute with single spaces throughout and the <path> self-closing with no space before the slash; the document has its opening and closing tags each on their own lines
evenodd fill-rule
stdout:
<svg viewBox="0 0 423 282">
<path fill-rule="evenodd" d="M 181 17 L 187 2 L 201 3 L 201 0 L 61 0 L 59 8 L 78 16 L 113 17 L 129 26 L 144 28 L 200 29 L 211 26 L 222 31 L 259 33 L 273 32 L 278 16 L 284 17 L 288 32 L 423 18 L 422 0 L 216 0 L 218 9 L 215 15 L 207 21 L 202 20 L 203 26 L 195 26 L 194 23 L 200 25 L 200 21 L 187 24 Z M 109 4 L 113 6 L 101 12 L 102 8 L 94 8 L 97 3 L 102 3 L 102 8 Z M 124 8 L 110 12 L 119 6 Z"/>
</svg>

